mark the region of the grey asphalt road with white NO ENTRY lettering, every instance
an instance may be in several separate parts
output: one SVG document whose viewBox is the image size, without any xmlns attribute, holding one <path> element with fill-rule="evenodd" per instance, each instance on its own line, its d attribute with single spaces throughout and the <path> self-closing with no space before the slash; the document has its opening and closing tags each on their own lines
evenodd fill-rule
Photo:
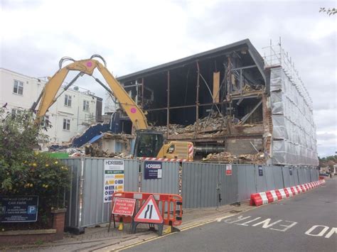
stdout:
<svg viewBox="0 0 337 252">
<path fill-rule="evenodd" d="M 123 251 L 337 251 L 337 177 L 304 194 Z"/>
</svg>

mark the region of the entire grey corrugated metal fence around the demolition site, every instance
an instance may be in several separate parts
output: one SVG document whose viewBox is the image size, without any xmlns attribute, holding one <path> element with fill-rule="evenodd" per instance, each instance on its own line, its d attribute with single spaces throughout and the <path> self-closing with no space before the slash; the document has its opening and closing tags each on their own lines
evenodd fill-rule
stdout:
<svg viewBox="0 0 337 252">
<path fill-rule="evenodd" d="M 104 203 L 106 158 L 69 158 L 72 182 L 66 194 L 66 226 L 84 227 L 109 221 Z M 319 179 L 317 170 L 265 165 L 161 162 L 161 178 L 145 179 L 145 161 L 124 160 L 124 191 L 182 194 L 183 207 L 218 207 L 264 192 Z"/>
</svg>

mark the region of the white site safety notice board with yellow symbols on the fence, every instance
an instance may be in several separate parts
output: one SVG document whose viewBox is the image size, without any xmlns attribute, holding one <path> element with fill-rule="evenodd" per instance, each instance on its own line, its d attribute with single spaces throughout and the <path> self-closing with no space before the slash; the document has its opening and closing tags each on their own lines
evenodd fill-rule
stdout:
<svg viewBox="0 0 337 252">
<path fill-rule="evenodd" d="M 111 202 L 114 192 L 124 191 L 124 160 L 107 159 L 104 164 L 104 202 Z"/>
</svg>

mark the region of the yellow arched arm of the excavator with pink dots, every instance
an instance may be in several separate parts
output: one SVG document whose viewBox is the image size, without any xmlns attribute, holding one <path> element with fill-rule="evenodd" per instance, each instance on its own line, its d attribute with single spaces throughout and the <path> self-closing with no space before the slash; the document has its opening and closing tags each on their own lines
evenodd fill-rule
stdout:
<svg viewBox="0 0 337 252">
<path fill-rule="evenodd" d="M 129 116 L 129 119 L 132 121 L 134 127 L 136 129 L 147 129 L 147 119 L 143 111 L 141 111 L 134 100 L 129 97 L 129 94 L 127 94 L 122 85 L 119 84 L 119 82 L 117 82 L 117 80 L 107 70 L 105 65 L 102 65 L 99 61 L 93 60 L 92 58 L 88 60 L 74 61 L 65 67 L 61 67 L 60 65 L 60 70 L 58 70 L 58 72 L 56 72 L 55 75 L 50 78 L 43 89 L 36 119 L 41 120 L 41 118 L 46 114 L 46 111 L 50 108 L 51 105 L 53 105 L 56 94 L 58 93 L 58 90 L 63 84 L 69 71 L 80 71 L 81 74 L 92 75 L 95 68 L 97 68 L 97 70 L 99 70 L 102 76 L 105 78 L 105 81 L 109 85 L 110 89 L 112 89 L 114 97 L 116 97 L 116 99 L 119 101 L 122 109 L 124 109 L 125 113 L 127 113 L 127 116 Z"/>
</svg>

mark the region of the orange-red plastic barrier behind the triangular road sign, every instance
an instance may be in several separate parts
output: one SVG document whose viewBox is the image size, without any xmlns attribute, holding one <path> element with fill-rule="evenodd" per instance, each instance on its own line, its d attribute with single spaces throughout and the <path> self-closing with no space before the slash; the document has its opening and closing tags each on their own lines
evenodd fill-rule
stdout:
<svg viewBox="0 0 337 252">
<path fill-rule="evenodd" d="M 114 192 L 112 195 L 112 208 L 116 198 L 136 199 L 136 211 L 137 214 L 141 206 L 146 202 L 146 199 L 151 195 L 154 196 L 156 204 L 161 212 L 161 217 L 164 219 L 164 224 L 169 226 L 179 226 L 182 224 L 183 218 L 183 198 L 180 195 L 164 194 L 164 193 L 148 193 L 148 192 Z M 133 217 L 112 214 L 111 209 L 110 221 L 114 217 L 119 222 L 131 223 Z"/>
</svg>

